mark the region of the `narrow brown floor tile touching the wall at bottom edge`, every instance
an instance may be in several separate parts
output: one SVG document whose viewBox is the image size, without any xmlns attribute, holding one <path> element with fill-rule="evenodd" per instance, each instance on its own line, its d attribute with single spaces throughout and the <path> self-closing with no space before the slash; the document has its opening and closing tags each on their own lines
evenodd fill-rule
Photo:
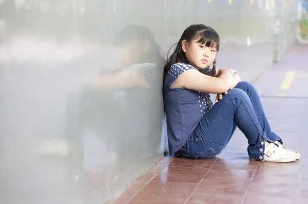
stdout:
<svg viewBox="0 0 308 204">
<path fill-rule="evenodd" d="M 130 199 L 132 199 L 135 195 L 137 195 L 145 186 L 147 182 L 133 182 L 129 185 L 129 187 L 126 189 L 126 191 L 121 194 L 119 198 L 117 198 L 115 201 L 110 202 L 111 204 L 125 204 Z"/>
</svg>

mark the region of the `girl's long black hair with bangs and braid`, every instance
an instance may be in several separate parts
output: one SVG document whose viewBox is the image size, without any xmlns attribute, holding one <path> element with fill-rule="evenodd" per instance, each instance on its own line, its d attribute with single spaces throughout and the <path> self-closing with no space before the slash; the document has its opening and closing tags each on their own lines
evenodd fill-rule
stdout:
<svg viewBox="0 0 308 204">
<path fill-rule="evenodd" d="M 213 28 L 205 26 L 203 24 L 191 25 L 184 30 L 179 42 L 172 45 L 172 47 L 174 47 L 175 45 L 177 46 L 174 53 L 172 53 L 168 58 L 169 52 L 172 47 L 169 49 L 167 54 L 168 59 L 164 67 L 164 76 L 166 75 L 172 64 L 179 62 L 189 64 L 185 52 L 182 50 L 182 41 L 186 40 L 189 44 L 192 40 L 196 40 L 198 38 L 200 38 L 198 43 L 206 43 L 205 46 L 207 47 L 216 45 L 217 51 L 219 50 L 220 38 L 218 33 Z M 204 73 L 205 75 L 213 77 L 216 76 L 216 59 L 213 62 L 213 68 L 210 69 L 209 67 L 206 67 L 205 69 L 199 69 L 199 71 L 201 73 Z"/>
</svg>

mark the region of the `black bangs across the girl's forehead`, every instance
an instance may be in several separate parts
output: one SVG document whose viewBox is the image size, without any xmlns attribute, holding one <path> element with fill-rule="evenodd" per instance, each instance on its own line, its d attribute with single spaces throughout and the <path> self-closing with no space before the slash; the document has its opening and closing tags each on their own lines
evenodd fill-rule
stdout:
<svg viewBox="0 0 308 204">
<path fill-rule="evenodd" d="M 205 44 L 206 47 L 215 47 L 219 50 L 219 35 L 215 30 L 203 30 L 198 34 L 199 41 L 197 43 Z"/>
</svg>

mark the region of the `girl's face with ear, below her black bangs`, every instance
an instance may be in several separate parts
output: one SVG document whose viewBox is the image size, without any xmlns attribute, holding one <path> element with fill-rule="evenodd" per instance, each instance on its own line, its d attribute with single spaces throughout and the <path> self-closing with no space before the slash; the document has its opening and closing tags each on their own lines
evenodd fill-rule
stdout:
<svg viewBox="0 0 308 204">
<path fill-rule="evenodd" d="M 205 43 L 198 43 L 199 38 L 192 40 L 189 44 L 186 40 L 182 41 L 182 49 L 186 54 L 188 62 L 198 69 L 204 69 L 211 65 L 216 58 L 216 45 L 206 47 Z"/>
</svg>

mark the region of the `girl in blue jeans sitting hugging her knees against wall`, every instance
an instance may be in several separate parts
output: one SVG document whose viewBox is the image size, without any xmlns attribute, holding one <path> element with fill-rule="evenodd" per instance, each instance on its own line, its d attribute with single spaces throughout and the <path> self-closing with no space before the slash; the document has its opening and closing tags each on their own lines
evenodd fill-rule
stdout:
<svg viewBox="0 0 308 204">
<path fill-rule="evenodd" d="M 241 82 L 234 69 L 216 70 L 219 42 L 214 29 L 191 25 L 166 62 L 164 105 L 170 156 L 213 158 L 239 127 L 248 140 L 250 159 L 299 159 L 299 153 L 283 147 L 281 138 L 271 131 L 256 89 Z M 215 105 L 209 93 L 217 94 Z"/>
</svg>

